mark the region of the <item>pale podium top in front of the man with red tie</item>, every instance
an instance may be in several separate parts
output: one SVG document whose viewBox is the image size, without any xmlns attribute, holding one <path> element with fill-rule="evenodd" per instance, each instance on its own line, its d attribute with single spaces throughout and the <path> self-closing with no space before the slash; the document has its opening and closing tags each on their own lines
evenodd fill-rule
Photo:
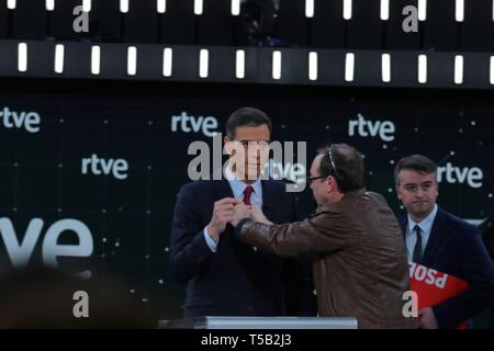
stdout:
<svg viewBox="0 0 494 351">
<path fill-rule="evenodd" d="M 158 329 L 357 329 L 355 317 L 195 317 L 160 320 Z"/>
</svg>

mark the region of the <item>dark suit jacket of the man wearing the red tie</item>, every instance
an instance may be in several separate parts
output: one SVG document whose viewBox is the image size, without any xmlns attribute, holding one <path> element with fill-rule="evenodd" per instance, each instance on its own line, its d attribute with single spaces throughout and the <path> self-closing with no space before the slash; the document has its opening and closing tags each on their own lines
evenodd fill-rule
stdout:
<svg viewBox="0 0 494 351">
<path fill-rule="evenodd" d="M 285 184 L 272 180 L 261 184 L 266 216 L 274 223 L 296 220 L 296 197 L 285 192 Z M 211 251 L 203 229 L 214 202 L 227 196 L 233 197 L 227 180 L 192 182 L 178 193 L 169 269 L 177 282 L 188 285 L 184 316 L 315 314 L 312 279 L 294 260 L 236 241 L 231 225 L 220 236 L 216 252 Z"/>
</svg>

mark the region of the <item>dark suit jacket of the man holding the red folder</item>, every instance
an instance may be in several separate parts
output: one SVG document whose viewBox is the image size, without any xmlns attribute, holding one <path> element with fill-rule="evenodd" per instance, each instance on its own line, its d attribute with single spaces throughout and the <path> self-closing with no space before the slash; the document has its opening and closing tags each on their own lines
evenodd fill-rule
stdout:
<svg viewBox="0 0 494 351">
<path fill-rule="evenodd" d="M 408 217 L 400 218 L 406 233 Z M 433 307 L 439 328 L 451 328 L 494 306 L 494 265 L 476 228 L 438 207 L 422 261 L 425 267 L 458 276 L 470 288 Z"/>
</svg>

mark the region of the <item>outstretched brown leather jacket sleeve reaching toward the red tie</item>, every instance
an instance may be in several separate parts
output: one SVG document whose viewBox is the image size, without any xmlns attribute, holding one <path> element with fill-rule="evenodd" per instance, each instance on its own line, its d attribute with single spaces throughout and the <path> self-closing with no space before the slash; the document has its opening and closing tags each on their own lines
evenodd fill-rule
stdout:
<svg viewBox="0 0 494 351">
<path fill-rule="evenodd" d="M 237 238 L 278 256 L 312 256 L 351 246 L 350 222 L 338 211 L 323 208 L 302 222 L 266 225 L 243 220 L 236 228 Z"/>
</svg>

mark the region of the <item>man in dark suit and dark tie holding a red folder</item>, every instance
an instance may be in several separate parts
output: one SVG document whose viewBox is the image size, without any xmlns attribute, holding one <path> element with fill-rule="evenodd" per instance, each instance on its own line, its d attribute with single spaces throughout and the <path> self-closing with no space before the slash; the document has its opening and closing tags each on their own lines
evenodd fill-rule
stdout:
<svg viewBox="0 0 494 351">
<path fill-rule="evenodd" d="M 408 261 L 454 275 L 470 288 L 419 310 L 424 328 L 451 328 L 494 306 L 494 265 L 476 228 L 436 204 L 437 166 L 412 155 L 396 165 L 397 197 L 407 210 L 400 218 Z"/>
</svg>

